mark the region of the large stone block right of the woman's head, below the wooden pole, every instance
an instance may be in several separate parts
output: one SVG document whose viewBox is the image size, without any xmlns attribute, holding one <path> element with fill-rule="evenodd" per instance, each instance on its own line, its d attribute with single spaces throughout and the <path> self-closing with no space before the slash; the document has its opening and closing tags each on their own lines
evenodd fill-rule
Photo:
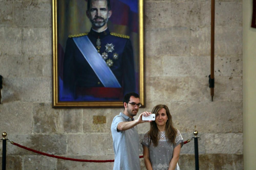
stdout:
<svg viewBox="0 0 256 170">
<path fill-rule="evenodd" d="M 174 126 L 181 133 L 241 133 L 242 102 L 190 102 L 167 104 Z"/>
</svg>

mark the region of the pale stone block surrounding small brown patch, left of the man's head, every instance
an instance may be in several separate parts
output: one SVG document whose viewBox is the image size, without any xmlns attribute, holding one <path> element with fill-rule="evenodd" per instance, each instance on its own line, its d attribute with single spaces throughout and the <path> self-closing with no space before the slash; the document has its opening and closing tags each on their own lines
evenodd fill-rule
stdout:
<svg viewBox="0 0 256 170">
<path fill-rule="evenodd" d="M 111 123 L 116 115 L 119 115 L 123 109 L 120 108 L 98 108 L 98 109 L 83 109 L 83 132 L 100 132 L 110 133 L 111 135 Z M 93 116 L 105 116 L 106 123 L 95 124 L 93 123 Z M 112 140 L 112 139 L 111 139 Z"/>
</svg>

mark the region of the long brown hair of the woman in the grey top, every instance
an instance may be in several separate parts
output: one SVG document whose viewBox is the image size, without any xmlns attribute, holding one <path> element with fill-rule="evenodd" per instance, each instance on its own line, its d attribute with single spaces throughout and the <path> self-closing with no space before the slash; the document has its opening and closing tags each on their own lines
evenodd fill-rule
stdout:
<svg viewBox="0 0 256 170">
<path fill-rule="evenodd" d="M 168 107 L 164 104 L 158 104 L 153 108 L 151 113 L 157 114 L 157 112 L 163 108 L 166 110 L 166 115 L 168 119 L 165 124 L 165 136 L 166 138 L 169 139 L 168 142 L 175 143 L 177 129 L 173 127 L 172 116 L 170 114 Z M 150 122 L 150 130 L 148 131 L 148 135 L 150 136 L 152 142 L 154 143 L 154 146 L 157 146 L 160 136 L 159 136 L 159 130 L 157 128 L 155 121 Z"/>
</svg>

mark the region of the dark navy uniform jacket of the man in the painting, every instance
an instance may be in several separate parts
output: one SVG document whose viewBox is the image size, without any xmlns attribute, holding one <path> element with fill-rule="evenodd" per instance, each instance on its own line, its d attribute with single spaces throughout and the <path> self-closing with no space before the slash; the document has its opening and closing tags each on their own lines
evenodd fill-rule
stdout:
<svg viewBox="0 0 256 170">
<path fill-rule="evenodd" d="M 78 34 L 73 37 L 79 35 L 88 36 L 95 48 L 96 41 L 100 38 L 100 54 L 103 52 L 107 53 L 106 44 L 112 43 L 114 45 L 114 50 L 107 53 L 108 58 L 106 60 L 111 59 L 113 61 L 113 65 L 110 69 L 121 85 L 121 88 L 104 88 L 103 84 L 74 43 L 72 36 L 70 36 L 67 40 L 63 64 L 64 93 L 72 95 L 74 100 L 76 100 L 78 96 L 80 96 L 79 100 L 120 100 L 123 94 L 135 91 L 134 59 L 129 36 L 110 33 L 108 29 L 101 33 L 91 29 L 88 35 Z M 115 53 L 118 54 L 117 59 L 113 59 Z M 96 94 L 93 94 L 94 92 Z M 101 93 L 102 96 L 99 96 L 98 93 Z"/>
</svg>

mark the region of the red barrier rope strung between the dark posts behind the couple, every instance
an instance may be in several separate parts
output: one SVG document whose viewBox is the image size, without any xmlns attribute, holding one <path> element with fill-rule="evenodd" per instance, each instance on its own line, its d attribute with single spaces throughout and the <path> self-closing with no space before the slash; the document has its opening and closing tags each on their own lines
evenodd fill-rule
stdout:
<svg viewBox="0 0 256 170">
<path fill-rule="evenodd" d="M 185 141 L 184 144 L 188 143 L 189 141 L 190 140 Z M 63 160 L 69 160 L 69 161 L 78 161 L 78 162 L 114 162 L 114 160 L 86 160 L 86 159 L 66 158 L 66 157 L 62 157 L 62 156 L 50 155 L 48 153 L 36 151 L 34 149 L 27 148 L 25 146 L 19 145 L 18 143 L 15 143 L 15 142 L 10 142 L 10 143 L 12 143 L 13 145 L 15 145 L 17 147 L 26 149 L 28 151 L 35 152 L 35 153 L 38 153 L 38 154 L 41 154 L 41 155 L 45 155 L 45 156 L 49 156 L 49 157 L 52 157 L 52 158 L 57 158 L 57 159 L 63 159 Z M 139 156 L 139 158 L 143 158 L 143 155 Z"/>
</svg>

